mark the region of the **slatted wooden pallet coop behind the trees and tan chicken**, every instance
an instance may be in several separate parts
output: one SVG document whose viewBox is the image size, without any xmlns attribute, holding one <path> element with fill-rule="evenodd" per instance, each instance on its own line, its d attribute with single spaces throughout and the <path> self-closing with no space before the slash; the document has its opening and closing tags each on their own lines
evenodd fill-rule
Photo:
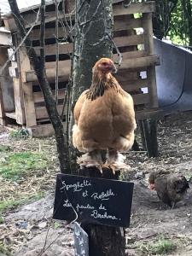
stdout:
<svg viewBox="0 0 192 256">
<path fill-rule="evenodd" d="M 154 2 L 132 3 L 128 8 L 125 8 L 122 2 L 120 0 L 113 1 L 113 40 L 123 55 L 123 61 L 116 77 L 119 84 L 133 96 L 137 120 L 140 121 L 143 140 L 147 142 L 146 147 L 148 149 L 151 141 L 155 141 L 156 131 L 153 120 L 160 113 L 155 81 L 155 66 L 160 65 L 160 58 L 154 55 L 152 29 L 152 13 L 155 11 L 155 4 Z M 58 29 L 59 38 L 62 38 L 62 44 L 59 44 L 59 113 L 62 111 L 65 88 L 70 76 L 70 54 L 73 52 L 73 44 L 70 43 L 70 40 L 63 42 L 63 38 L 68 39 L 67 26 L 64 27 L 67 13 L 70 13 L 74 7 L 74 1 L 68 3 L 70 4 L 66 6 L 65 16 L 61 11 L 62 5 L 59 6 L 60 19 L 63 19 L 63 24 Z M 22 11 L 27 28 L 32 26 L 36 20 L 37 9 L 38 7 L 33 10 L 29 8 Z M 46 6 L 45 22 L 46 73 L 53 93 L 55 93 L 54 4 Z M 12 32 L 13 44 L 17 47 L 20 44 L 20 36 L 13 17 L 7 15 L 4 18 L 4 24 Z M 34 26 L 30 34 L 32 45 L 38 55 L 40 55 L 39 24 L 40 22 Z M 11 61 L 9 70 L 14 82 L 15 109 L 12 112 L 4 110 L 4 121 L 6 122 L 7 118 L 15 119 L 17 124 L 30 128 L 34 136 L 49 136 L 53 133 L 53 127 L 49 123 L 48 113 L 44 106 L 44 97 L 39 88 L 37 77 L 23 47 L 20 47 L 15 55 L 15 60 Z M 141 72 L 144 75 L 141 76 Z M 156 146 L 154 145 L 154 147 Z"/>
</svg>

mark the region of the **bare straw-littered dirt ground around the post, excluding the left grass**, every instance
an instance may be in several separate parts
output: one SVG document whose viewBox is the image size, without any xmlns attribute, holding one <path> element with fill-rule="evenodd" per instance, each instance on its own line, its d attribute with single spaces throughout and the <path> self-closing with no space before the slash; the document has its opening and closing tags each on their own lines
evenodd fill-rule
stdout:
<svg viewBox="0 0 192 256">
<path fill-rule="evenodd" d="M 144 151 L 126 154 L 131 171 L 123 172 L 121 177 L 135 183 L 131 226 L 126 229 L 127 255 L 192 255 L 192 184 L 184 200 L 172 210 L 166 209 L 163 203 L 158 201 L 156 193 L 148 189 L 147 183 L 148 173 L 160 169 L 175 173 L 182 172 L 188 179 L 192 176 L 191 131 L 192 112 L 168 116 L 158 124 L 160 150 L 158 158 L 148 159 Z M 3 223 L 0 224 L 0 249 L 2 244 L 9 250 L 2 250 L 2 252 L 0 250 L 0 256 L 74 255 L 73 225 L 67 226 L 66 223 L 51 220 L 55 173 L 58 172 L 58 163 L 54 158 L 54 139 L 28 138 L 18 141 L 9 136 L 9 131 L 0 127 L 1 144 L 9 145 L 16 151 L 25 151 L 30 148 L 38 151 L 45 150 L 44 152 L 54 160 L 49 170 L 42 174 L 44 178 L 30 177 L 29 180 L 32 178 L 35 180 L 32 187 L 29 184 L 28 187 L 25 185 L 25 188 L 32 189 L 38 186 L 44 189 L 44 196 L 38 201 L 32 201 L 3 213 Z M 1 190 L 3 188 L 1 179 L 0 185 Z M 15 185 L 10 183 L 10 186 L 14 191 Z M 3 191 L 12 193 L 9 189 Z M 163 247 L 170 249 L 165 251 Z M 42 254 L 43 248 L 45 251 Z"/>
</svg>

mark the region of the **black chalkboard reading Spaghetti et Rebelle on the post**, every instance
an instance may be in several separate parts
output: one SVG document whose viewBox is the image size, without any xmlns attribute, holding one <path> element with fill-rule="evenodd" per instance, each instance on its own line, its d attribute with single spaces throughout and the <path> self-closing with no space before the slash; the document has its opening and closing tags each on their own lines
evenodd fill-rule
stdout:
<svg viewBox="0 0 192 256">
<path fill-rule="evenodd" d="M 128 227 L 133 183 L 58 174 L 53 218 Z"/>
</svg>

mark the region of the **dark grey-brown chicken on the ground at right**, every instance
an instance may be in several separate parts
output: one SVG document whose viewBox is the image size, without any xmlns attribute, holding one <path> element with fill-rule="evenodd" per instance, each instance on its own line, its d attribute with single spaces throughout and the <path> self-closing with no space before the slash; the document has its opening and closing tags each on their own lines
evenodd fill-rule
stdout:
<svg viewBox="0 0 192 256">
<path fill-rule="evenodd" d="M 189 189 L 189 183 L 183 175 L 171 174 L 166 171 L 152 172 L 148 177 L 150 189 L 157 192 L 160 201 L 174 208 Z"/>
</svg>

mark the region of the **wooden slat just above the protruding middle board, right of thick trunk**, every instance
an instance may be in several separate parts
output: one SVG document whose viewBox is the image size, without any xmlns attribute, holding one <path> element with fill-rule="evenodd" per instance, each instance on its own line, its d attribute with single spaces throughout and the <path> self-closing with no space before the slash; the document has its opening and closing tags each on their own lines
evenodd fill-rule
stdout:
<svg viewBox="0 0 192 256">
<path fill-rule="evenodd" d="M 118 47 L 124 47 L 124 46 L 137 45 L 137 44 L 144 43 L 143 34 L 113 38 L 113 40 L 114 40 L 114 43 L 117 44 Z"/>
</svg>

